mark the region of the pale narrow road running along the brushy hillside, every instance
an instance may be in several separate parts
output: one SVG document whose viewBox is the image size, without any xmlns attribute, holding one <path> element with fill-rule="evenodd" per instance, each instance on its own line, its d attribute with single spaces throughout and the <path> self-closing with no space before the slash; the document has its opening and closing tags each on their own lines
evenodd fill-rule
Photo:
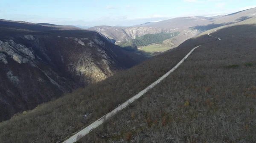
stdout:
<svg viewBox="0 0 256 143">
<path fill-rule="evenodd" d="M 208 34 L 209 36 L 210 33 Z M 215 36 L 211 36 L 214 37 L 218 40 L 221 40 L 218 37 Z M 151 85 L 149 85 L 147 88 L 145 88 L 144 90 L 142 90 L 140 93 L 138 93 L 137 95 L 133 96 L 132 98 L 130 98 L 129 100 L 125 101 L 123 104 L 119 105 L 118 107 L 116 107 L 115 109 L 113 109 L 111 112 L 109 112 L 108 114 L 104 115 L 102 118 L 100 118 L 99 120 L 93 122 L 92 124 L 90 124 L 89 126 L 87 126 L 86 128 L 82 129 L 80 132 L 76 133 L 75 135 L 71 136 L 70 138 L 68 138 L 67 140 L 65 140 L 63 143 L 74 143 L 78 140 L 80 140 L 82 137 L 84 137 L 85 135 L 87 135 L 89 132 L 91 132 L 93 129 L 95 129 L 96 127 L 98 127 L 99 125 L 101 125 L 102 123 L 104 123 L 105 121 L 107 121 L 109 118 L 111 118 L 113 115 L 116 115 L 116 113 L 118 113 L 119 111 L 121 111 L 122 109 L 124 109 L 125 107 L 127 107 L 129 104 L 131 104 L 132 102 L 136 101 L 138 98 L 140 98 L 142 95 L 144 95 L 146 92 L 148 92 L 148 90 L 150 90 L 151 88 L 153 88 L 154 86 L 156 86 L 157 84 L 159 84 L 161 81 L 163 81 L 163 79 L 165 79 L 167 76 L 169 76 L 174 70 L 177 69 L 177 67 L 180 66 L 180 64 L 182 64 L 184 62 L 184 60 L 198 47 L 200 47 L 201 45 L 193 48 L 177 65 L 175 65 L 175 67 L 172 68 L 172 70 L 169 70 L 169 72 L 167 72 L 165 75 L 163 75 L 162 77 L 160 77 L 160 79 L 158 79 L 157 81 L 155 81 L 154 83 L 152 83 Z"/>
</svg>

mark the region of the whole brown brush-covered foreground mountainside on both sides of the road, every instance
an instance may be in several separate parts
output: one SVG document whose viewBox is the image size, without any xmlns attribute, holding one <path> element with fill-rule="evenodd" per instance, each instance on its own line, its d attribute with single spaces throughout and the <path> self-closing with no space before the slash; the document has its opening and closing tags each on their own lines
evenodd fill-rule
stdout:
<svg viewBox="0 0 256 143">
<path fill-rule="evenodd" d="M 0 123 L 0 142 L 64 141 L 145 89 L 201 45 L 164 81 L 79 142 L 253 143 L 255 24 L 254 17 L 205 31 L 104 81 L 18 114 Z"/>
</svg>

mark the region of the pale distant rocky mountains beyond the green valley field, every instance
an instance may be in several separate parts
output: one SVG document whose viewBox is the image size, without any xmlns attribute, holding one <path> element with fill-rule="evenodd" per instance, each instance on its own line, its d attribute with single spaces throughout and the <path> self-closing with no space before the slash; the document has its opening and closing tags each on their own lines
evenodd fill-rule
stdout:
<svg viewBox="0 0 256 143">
<path fill-rule="evenodd" d="M 88 28 L 88 30 L 98 31 L 106 37 L 112 39 L 113 43 L 125 48 L 134 49 L 134 41 L 137 38 L 146 34 L 159 33 L 175 33 L 178 35 L 170 39 L 161 41 L 161 45 L 169 48 L 175 48 L 182 42 L 193 36 L 200 34 L 212 28 L 217 28 L 223 25 L 229 25 L 236 22 L 256 17 L 256 8 L 239 11 L 233 14 L 222 14 L 212 17 L 176 17 L 160 22 L 146 22 L 140 25 L 131 27 L 111 27 L 111 26 L 96 26 Z M 151 42 L 152 43 L 152 42 Z"/>
</svg>

